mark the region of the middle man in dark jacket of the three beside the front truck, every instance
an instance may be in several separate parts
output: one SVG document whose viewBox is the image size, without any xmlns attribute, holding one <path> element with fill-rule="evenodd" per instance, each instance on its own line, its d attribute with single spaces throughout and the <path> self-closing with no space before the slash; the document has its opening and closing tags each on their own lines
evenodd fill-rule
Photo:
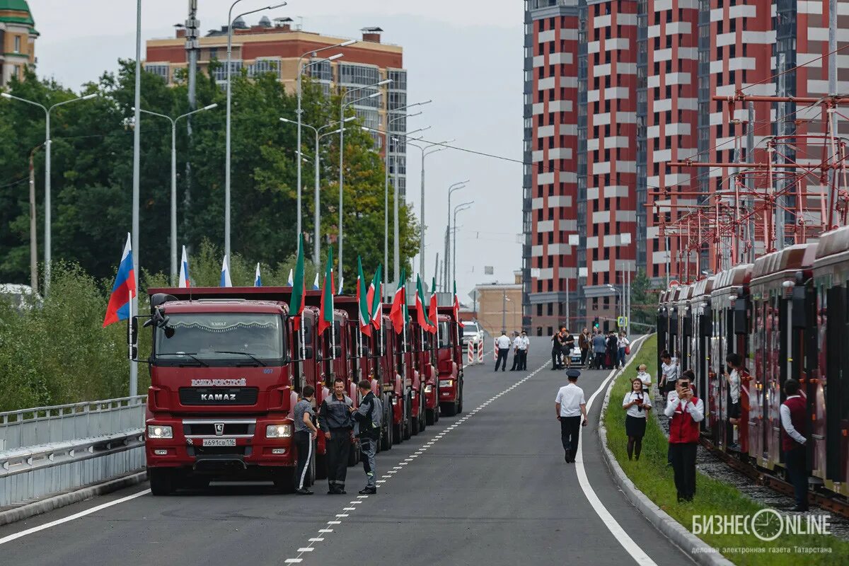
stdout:
<svg viewBox="0 0 849 566">
<path fill-rule="evenodd" d="M 324 434 L 327 451 L 327 483 L 330 495 L 344 495 L 348 474 L 348 456 L 351 453 L 351 432 L 354 428 L 351 407 L 354 402 L 345 395 L 345 380 L 335 378 L 333 395 L 321 403 L 318 424 Z"/>
</svg>

